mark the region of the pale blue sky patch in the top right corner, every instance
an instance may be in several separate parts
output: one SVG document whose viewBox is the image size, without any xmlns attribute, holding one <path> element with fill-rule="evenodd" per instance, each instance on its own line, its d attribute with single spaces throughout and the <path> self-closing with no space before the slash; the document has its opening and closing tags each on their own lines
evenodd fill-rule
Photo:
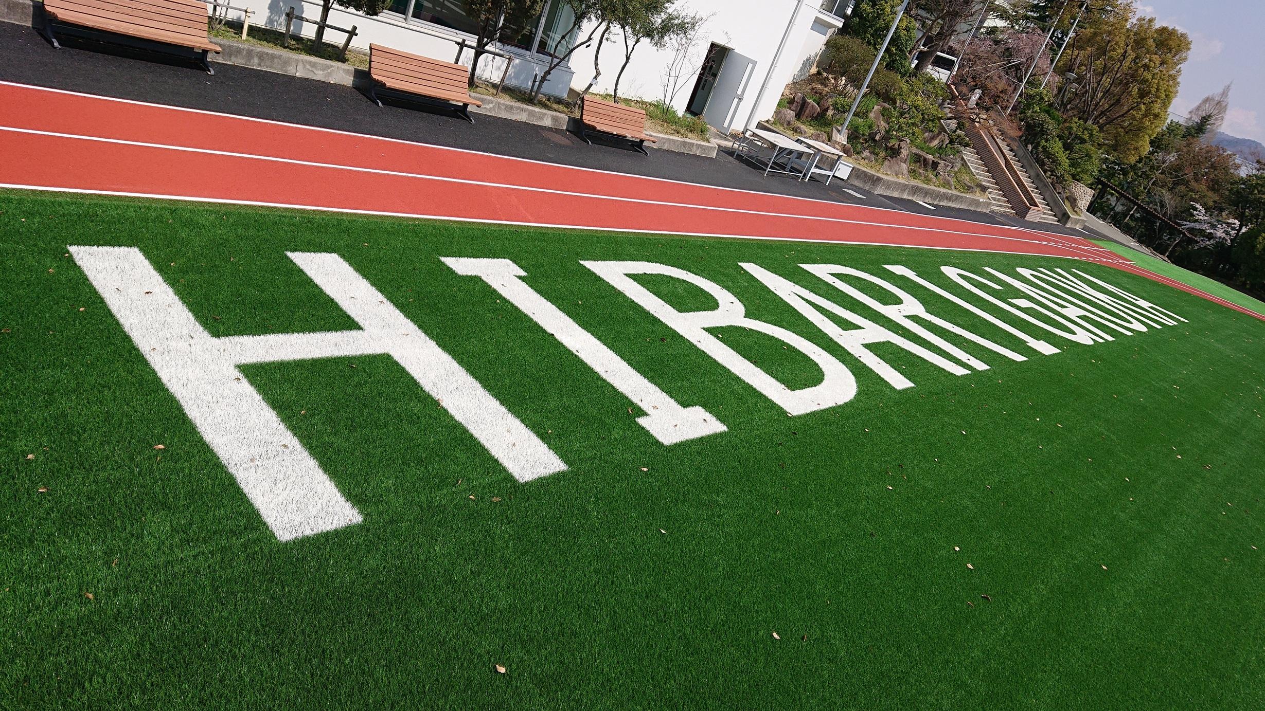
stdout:
<svg viewBox="0 0 1265 711">
<path fill-rule="evenodd" d="M 1171 110 L 1235 82 L 1222 132 L 1265 143 L 1265 0 L 1133 0 L 1138 13 L 1190 35 L 1190 58 Z"/>
</svg>

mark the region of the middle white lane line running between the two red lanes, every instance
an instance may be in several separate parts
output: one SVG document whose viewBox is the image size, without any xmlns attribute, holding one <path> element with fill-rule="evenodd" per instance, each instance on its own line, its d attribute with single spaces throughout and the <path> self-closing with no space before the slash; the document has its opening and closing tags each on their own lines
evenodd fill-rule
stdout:
<svg viewBox="0 0 1265 711">
<path fill-rule="evenodd" d="M 717 207 L 717 206 L 711 206 L 711 205 L 693 205 L 693 204 L 688 204 L 688 202 L 665 202 L 665 201 L 659 201 L 659 200 L 644 200 L 644 199 L 636 199 L 636 197 L 616 197 L 616 196 L 611 196 L 611 195 L 595 195 L 595 194 L 588 194 L 588 192 L 573 192 L 573 191 L 565 191 L 565 190 L 553 190 L 553 189 L 546 189 L 546 187 L 528 187 L 528 186 L 520 186 L 520 185 L 512 185 L 512 183 L 474 181 L 474 180 L 468 180 L 468 178 L 453 178 L 453 177 L 444 177 L 444 176 L 431 176 L 431 175 L 426 175 L 426 173 L 411 173 L 411 172 L 404 172 L 404 171 L 388 171 L 388 170 L 382 170 L 382 168 L 364 168 L 364 167 L 359 167 L 359 166 L 343 166 L 340 163 L 321 163 L 321 162 L 315 162 L 315 161 L 300 161 L 300 159 L 296 159 L 296 158 L 280 158 L 280 157 L 276 157 L 276 156 L 257 156 L 257 154 L 253 154 L 253 153 L 235 153 L 235 152 L 231 152 L 231 151 L 215 151 L 215 149 L 211 149 L 211 148 L 191 148 L 191 147 L 187 147 L 187 145 L 170 145 L 170 144 L 164 144 L 164 143 L 145 143 L 145 142 L 139 142 L 139 140 L 124 140 L 124 139 L 119 139 L 119 138 L 101 138 L 101 137 L 96 137 L 96 135 L 80 135 L 80 134 L 70 134 L 70 133 L 56 133 L 56 132 L 34 130 L 34 129 L 13 128 L 13 127 L 0 127 L 0 130 L 13 132 L 13 133 L 24 133 L 24 134 L 32 134 L 32 135 L 48 135 L 48 137 L 53 137 L 53 138 L 65 138 L 65 139 L 71 139 L 71 140 L 89 140 L 89 142 L 97 142 L 97 143 L 113 143 L 113 144 L 119 144 L 119 145 L 135 145 L 135 147 L 140 147 L 140 148 L 156 148 L 156 149 L 164 149 L 164 151 L 177 151 L 177 152 L 183 152 L 183 153 L 201 153 L 201 154 L 209 154 L 209 156 L 223 156 L 223 157 L 229 157 L 229 158 L 243 158 L 243 159 L 266 161 L 266 162 L 275 162 L 275 163 L 290 163 L 290 164 L 306 166 L 306 167 L 344 170 L 344 171 L 376 173 L 376 175 L 387 175 L 387 176 L 406 177 L 406 178 L 415 178 L 415 180 L 433 180 L 433 181 L 438 181 L 438 182 L 453 182 L 453 183 L 463 183 L 463 185 L 476 185 L 476 186 L 481 186 L 481 187 L 496 187 L 496 189 L 506 189 L 506 190 L 521 190 L 521 191 L 528 191 L 528 192 L 544 192 L 544 194 L 552 194 L 552 195 L 565 195 L 565 196 L 571 196 L 571 197 L 589 197 L 589 199 L 597 199 L 597 200 L 612 200 L 612 201 L 635 202 L 635 204 L 643 204 L 643 205 L 660 205 L 660 206 L 670 206 L 670 207 L 687 207 L 687 209 L 694 209 L 694 210 L 713 210 L 713 211 L 736 213 L 736 214 L 746 214 L 746 215 L 762 215 L 762 216 L 773 216 L 773 218 L 791 218 L 791 219 L 796 219 L 796 220 L 817 220 L 817 221 L 830 221 L 830 223 L 863 225 L 863 226 L 880 226 L 880 228 L 910 229 L 910 230 L 920 230 L 920 232 L 935 232 L 935 233 L 953 234 L 953 235 L 959 235 L 959 237 L 977 237 L 977 238 L 987 238 L 987 239 L 1004 239 L 1004 240 L 1011 240 L 1011 242 L 1023 242 L 1023 243 L 1028 243 L 1028 244 L 1041 244 L 1041 245 L 1045 245 L 1045 247 L 1056 247 L 1059 249 L 1069 249 L 1069 245 L 1061 244 L 1061 243 L 1058 243 L 1058 242 L 1037 240 L 1037 239 L 1023 239 L 1023 238 L 1018 238 L 1018 237 L 998 237 L 998 235 L 989 235 L 989 234 L 964 233 L 964 232 L 955 232 L 955 230 L 947 230 L 947 229 L 940 229 L 940 228 L 922 228 L 922 226 L 911 226 L 911 225 L 893 225 L 893 224 L 887 224 L 887 223 L 868 223 L 868 221 L 863 221 L 863 220 L 846 220 L 846 219 L 842 219 L 842 218 L 821 218 L 821 216 L 813 216 L 813 215 L 792 215 L 792 214 L 787 214 L 787 213 L 764 213 L 764 211 L 759 211 L 759 210 L 741 210 L 741 209 L 736 209 L 736 207 Z M 602 228 L 588 228 L 588 229 L 602 229 Z M 648 230 L 644 230 L 644 232 L 648 232 Z M 860 243 L 853 243 L 853 244 L 860 244 Z"/>
</svg>

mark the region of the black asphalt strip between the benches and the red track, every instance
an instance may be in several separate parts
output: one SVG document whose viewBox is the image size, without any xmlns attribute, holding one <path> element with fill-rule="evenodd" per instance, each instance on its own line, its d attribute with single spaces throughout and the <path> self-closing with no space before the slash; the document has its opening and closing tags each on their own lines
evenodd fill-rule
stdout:
<svg viewBox="0 0 1265 711">
<path fill-rule="evenodd" d="M 1068 230 L 1061 225 L 1039 225 L 1015 218 L 953 207 L 932 209 L 912 200 L 874 195 L 837 178 L 826 186 L 816 181 L 798 182 L 786 176 L 765 177 L 751 164 L 734 158 L 725 151 L 716 158 L 703 158 L 651 149 L 646 157 L 619 147 L 588 145 L 565 130 L 522 121 L 476 114 L 476 123 L 471 125 L 441 109 L 430 111 L 391 104 L 378 108 L 358 89 L 349 86 L 214 61 L 215 75 L 210 76 L 191 61 L 95 42 L 70 38 L 58 40 L 62 43 L 62 49 L 54 49 L 30 27 L 0 22 L 0 80 L 567 166 L 1085 237 L 1085 233 Z M 231 138 L 226 140 L 230 142 Z M 231 149 L 231 144 L 226 144 L 225 148 Z M 846 190 L 859 192 L 863 197 L 856 197 Z"/>
</svg>

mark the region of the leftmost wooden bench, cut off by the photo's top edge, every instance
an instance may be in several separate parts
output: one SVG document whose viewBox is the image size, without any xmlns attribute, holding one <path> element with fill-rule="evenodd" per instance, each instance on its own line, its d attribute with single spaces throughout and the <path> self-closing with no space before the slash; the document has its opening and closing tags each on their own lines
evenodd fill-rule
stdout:
<svg viewBox="0 0 1265 711">
<path fill-rule="evenodd" d="M 209 75 L 215 70 L 206 54 L 220 51 L 206 35 L 206 3 L 195 0 L 44 0 L 43 35 L 61 48 L 54 29 L 138 49 L 187 51 Z"/>
</svg>

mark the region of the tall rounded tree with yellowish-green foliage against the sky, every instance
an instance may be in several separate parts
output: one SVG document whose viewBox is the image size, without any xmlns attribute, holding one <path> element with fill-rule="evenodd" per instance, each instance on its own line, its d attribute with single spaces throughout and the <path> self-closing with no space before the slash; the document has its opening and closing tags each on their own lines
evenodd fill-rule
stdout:
<svg viewBox="0 0 1265 711">
<path fill-rule="evenodd" d="M 1184 32 L 1135 13 L 1125 3 L 1085 16 L 1060 62 L 1079 85 L 1064 113 L 1098 127 L 1107 149 L 1126 163 L 1144 156 L 1164 128 L 1190 52 Z"/>
</svg>

